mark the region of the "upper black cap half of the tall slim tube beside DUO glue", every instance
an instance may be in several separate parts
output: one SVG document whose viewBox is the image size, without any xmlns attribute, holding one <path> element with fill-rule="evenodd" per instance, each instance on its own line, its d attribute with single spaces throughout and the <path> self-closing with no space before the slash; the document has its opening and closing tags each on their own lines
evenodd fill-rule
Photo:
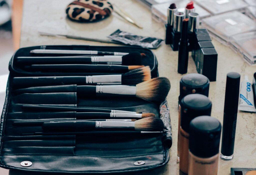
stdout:
<svg viewBox="0 0 256 175">
<path fill-rule="evenodd" d="M 240 74 L 229 72 L 227 74 L 224 113 L 236 114 L 239 101 Z"/>
</svg>

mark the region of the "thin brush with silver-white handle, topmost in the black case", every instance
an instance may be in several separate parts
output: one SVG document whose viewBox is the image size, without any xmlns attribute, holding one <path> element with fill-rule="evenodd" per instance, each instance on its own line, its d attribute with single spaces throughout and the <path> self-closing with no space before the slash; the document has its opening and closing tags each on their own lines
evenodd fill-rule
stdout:
<svg viewBox="0 0 256 175">
<path fill-rule="evenodd" d="M 127 55 L 124 52 L 102 52 L 96 50 L 55 50 L 55 49 L 34 49 L 32 54 L 72 54 L 72 55 Z"/>
</svg>

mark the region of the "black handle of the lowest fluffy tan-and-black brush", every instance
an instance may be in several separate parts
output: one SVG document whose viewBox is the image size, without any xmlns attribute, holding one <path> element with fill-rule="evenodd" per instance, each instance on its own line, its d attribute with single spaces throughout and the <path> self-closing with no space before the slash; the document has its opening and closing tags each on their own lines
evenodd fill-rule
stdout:
<svg viewBox="0 0 256 175">
<path fill-rule="evenodd" d="M 42 124 L 43 130 L 55 132 L 70 132 L 70 131 L 92 131 L 95 130 L 94 121 L 64 121 L 64 122 L 46 122 Z"/>
</svg>

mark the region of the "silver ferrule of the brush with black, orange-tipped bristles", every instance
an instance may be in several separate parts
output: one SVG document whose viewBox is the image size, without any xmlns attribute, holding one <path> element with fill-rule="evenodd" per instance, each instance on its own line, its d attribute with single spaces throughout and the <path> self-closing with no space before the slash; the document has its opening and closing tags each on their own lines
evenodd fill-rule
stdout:
<svg viewBox="0 0 256 175">
<path fill-rule="evenodd" d="M 86 83 L 122 84 L 122 75 L 93 75 L 86 76 Z"/>
</svg>

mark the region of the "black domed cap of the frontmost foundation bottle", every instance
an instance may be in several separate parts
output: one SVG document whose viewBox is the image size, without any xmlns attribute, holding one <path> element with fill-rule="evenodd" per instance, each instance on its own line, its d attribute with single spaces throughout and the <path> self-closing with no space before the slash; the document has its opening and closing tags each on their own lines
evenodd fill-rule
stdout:
<svg viewBox="0 0 256 175">
<path fill-rule="evenodd" d="M 219 153 L 220 122 L 210 116 L 199 116 L 190 122 L 189 151 L 197 157 L 207 158 Z"/>
</svg>

